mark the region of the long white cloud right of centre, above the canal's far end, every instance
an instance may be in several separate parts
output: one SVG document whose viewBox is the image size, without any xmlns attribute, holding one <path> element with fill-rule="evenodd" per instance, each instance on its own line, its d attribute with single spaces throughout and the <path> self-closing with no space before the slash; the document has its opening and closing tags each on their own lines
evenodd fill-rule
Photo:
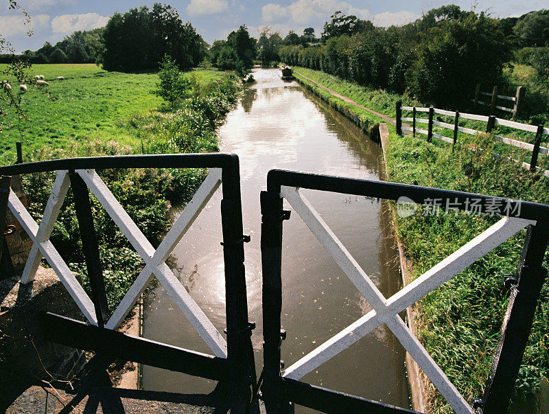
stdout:
<svg viewBox="0 0 549 414">
<path fill-rule="evenodd" d="M 419 18 L 412 12 L 385 12 L 372 14 L 368 9 L 356 8 L 351 3 L 341 0 L 296 0 L 288 6 L 269 3 L 261 8 L 261 18 L 266 22 L 288 20 L 288 17 L 300 25 L 321 23 L 329 19 L 335 10 L 344 14 L 354 14 L 359 19 L 370 20 L 375 25 L 388 27 L 401 25 Z"/>
</svg>

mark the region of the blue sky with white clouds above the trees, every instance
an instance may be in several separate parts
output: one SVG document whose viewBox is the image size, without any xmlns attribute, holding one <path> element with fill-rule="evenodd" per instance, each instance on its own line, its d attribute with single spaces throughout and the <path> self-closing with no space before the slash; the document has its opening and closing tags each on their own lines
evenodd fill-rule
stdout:
<svg viewBox="0 0 549 414">
<path fill-rule="evenodd" d="M 154 1 L 140 0 L 19 0 L 32 17 L 34 35 L 27 36 L 27 27 L 18 10 L 8 10 L 8 0 L 0 0 L 0 35 L 17 52 L 36 50 L 45 41 L 52 44 L 75 30 L 91 30 L 104 26 L 115 12 L 126 12 L 140 5 L 152 6 Z M 259 36 L 264 27 L 285 36 L 289 30 L 303 34 L 305 27 L 314 27 L 320 36 L 325 21 L 336 10 L 354 14 L 359 19 L 388 27 L 414 21 L 421 14 L 441 5 L 454 3 L 471 10 L 468 1 L 379 1 L 379 0 L 173 0 L 163 2 L 176 8 L 183 21 L 190 21 L 208 43 L 226 36 L 245 24 L 252 36 Z M 494 17 L 520 16 L 532 10 L 548 8 L 547 0 L 478 0 L 476 10 L 488 11 Z"/>
</svg>

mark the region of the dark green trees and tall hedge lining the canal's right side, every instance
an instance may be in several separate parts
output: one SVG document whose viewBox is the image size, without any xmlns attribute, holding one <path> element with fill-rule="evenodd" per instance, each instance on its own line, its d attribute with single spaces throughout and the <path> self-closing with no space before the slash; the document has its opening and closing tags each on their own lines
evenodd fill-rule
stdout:
<svg viewBox="0 0 549 414">
<path fill-rule="evenodd" d="M 513 51 L 533 45 L 547 51 L 549 10 L 492 19 L 484 12 L 445 5 L 387 29 L 336 12 L 321 39 L 316 46 L 281 46 L 279 59 L 359 84 L 407 91 L 422 102 L 465 103 L 471 85 L 504 83 L 502 69 Z M 530 60 L 537 58 L 542 67 L 539 54 Z"/>
</svg>

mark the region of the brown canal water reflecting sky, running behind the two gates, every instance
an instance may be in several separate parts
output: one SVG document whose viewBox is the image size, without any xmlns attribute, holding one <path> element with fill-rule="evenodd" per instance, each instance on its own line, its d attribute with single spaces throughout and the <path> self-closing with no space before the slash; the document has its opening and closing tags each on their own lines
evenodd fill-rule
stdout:
<svg viewBox="0 0 549 414">
<path fill-rule="evenodd" d="M 278 73 L 277 69 L 255 69 L 257 82 L 246 89 L 219 130 L 221 150 L 240 157 L 244 233 L 251 235 L 251 242 L 244 246 L 248 309 L 250 321 L 257 323 L 252 340 L 258 367 L 262 362 L 259 192 L 266 189 L 268 170 L 372 180 L 381 174 L 377 143 L 296 82 L 281 80 Z M 384 295 L 398 290 L 397 252 L 382 203 L 344 194 L 302 192 Z M 174 273 L 223 332 L 220 200 L 218 191 L 178 244 Z M 288 335 L 282 358 L 289 367 L 371 308 L 296 213 L 283 226 L 282 323 Z M 209 352 L 161 286 L 148 297 L 144 316 L 145 338 Z M 408 408 L 404 355 L 383 325 L 302 380 Z M 214 387 L 214 381 L 143 367 L 146 390 L 207 393 Z"/>
</svg>

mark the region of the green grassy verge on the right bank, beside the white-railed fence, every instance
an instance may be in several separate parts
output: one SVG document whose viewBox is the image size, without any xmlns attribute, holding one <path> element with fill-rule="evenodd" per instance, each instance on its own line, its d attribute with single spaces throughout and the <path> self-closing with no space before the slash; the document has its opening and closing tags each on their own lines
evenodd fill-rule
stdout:
<svg viewBox="0 0 549 414">
<path fill-rule="evenodd" d="M 317 81 L 326 79 L 320 76 L 315 78 L 318 73 L 311 72 L 305 69 L 303 74 Z M 344 95 L 344 88 L 349 85 L 338 87 L 338 82 L 341 81 L 332 79 L 321 83 Z M 331 97 L 324 89 L 316 87 L 316 91 L 329 102 L 347 105 L 345 107 L 351 111 L 360 113 L 360 108 Z M 353 100 L 357 97 L 347 96 Z M 386 100 L 386 94 L 379 99 Z M 370 102 L 373 100 L 369 98 Z M 358 99 L 356 101 L 359 102 Z M 369 101 L 362 100 L 360 103 L 368 106 Z M 380 106 L 371 107 L 390 115 L 389 111 L 381 111 L 383 108 Z M 368 117 L 371 122 L 380 121 L 370 113 L 362 116 Z M 507 158 L 493 157 L 493 152 L 502 148 L 488 135 L 474 137 L 460 134 L 460 143 L 452 148 L 452 145 L 437 139 L 427 143 L 422 135 L 399 137 L 393 126 L 388 125 L 388 128 L 390 138 L 386 155 L 391 181 L 549 203 L 549 181 L 539 174 L 530 174 Z M 490 216 L 430 216 L 423 215 L 423 212 L 426 213 L 419 209 L 413 216 L 399 218 L 396 223 L 406 255 L 414 265 L 413 277 L 427 271 L 497 220 Z M 509 294 L 502 288 L 502 281 L 504 275 L 516 270 L 524 233 L 511 238 L 419 303 L 423 315 L 423 319 L 418 321 L 421 324 L 421 342 L 469 402 L 479 398 L 484 391 L 509 299 Z M 535 409 L 538 384 L 543 376 L 548 375 L 547 332 L 549 287 L 546 285 L 513 395 L 513 406 L 517 412 Z M 429 398 L 431 411 L 452 412 L 438 393 L 432 391 Z"/>
</svg>

